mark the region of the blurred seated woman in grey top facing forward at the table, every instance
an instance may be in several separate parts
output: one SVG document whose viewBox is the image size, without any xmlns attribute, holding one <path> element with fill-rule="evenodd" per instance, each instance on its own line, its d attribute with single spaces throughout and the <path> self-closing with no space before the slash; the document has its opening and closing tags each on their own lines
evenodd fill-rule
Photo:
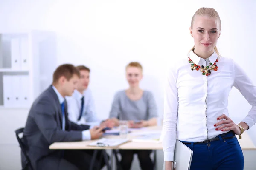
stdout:
<svg viewBox="0 0 256 170">
<path fill-rule="evenodd" d="M 150 91 L 140 88 L 143 68 L 138 62 L 131 62 L 126 66 L 126 79 L 129 83 L 127 90 L 118 91 L 114 97 L 110 112 L 111 120 L 128 120 L 129 127 L 140 128 L 157 125 L 157 106 Z M 136 153 L 142 170 L 153 170 L 150 159 L 152 150 L 119 150 L 122 155 L 123 170 L 130 170 L 133 156 Z"/>
</svg>

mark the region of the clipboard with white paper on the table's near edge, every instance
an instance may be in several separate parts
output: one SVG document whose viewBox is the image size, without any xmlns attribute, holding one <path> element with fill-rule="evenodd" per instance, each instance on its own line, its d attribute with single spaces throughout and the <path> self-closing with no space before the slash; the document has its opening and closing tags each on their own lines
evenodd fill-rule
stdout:
<svg viewBox="0 0 256 170">
<path fill-rule="evenodd" d="M 128 142 L 128 139 L 111 139 L 111 138 L 102 138 L 99 139 L 95 142 L 92 142 L 88 144 L 88 146 L 102 146 L 104 147 L 113 147 L 113 146 L 118 146 L 120 144 L 123 144 L 125 142 Z"/>
</svg>

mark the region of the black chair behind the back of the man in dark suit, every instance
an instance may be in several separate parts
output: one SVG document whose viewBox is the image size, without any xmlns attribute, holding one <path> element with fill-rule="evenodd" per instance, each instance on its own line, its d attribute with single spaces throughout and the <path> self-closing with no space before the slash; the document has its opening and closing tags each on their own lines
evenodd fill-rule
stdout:
<svg viewBox="0 0 256 170">
<path fill-rule="evenodd" d="M 28 154 L 26 152 L 25 144 L 22 142 L 22 140 L 20 139 L 20 136 L 19 136 L 21 133 L 23 133 L 23 130 L 24 130 L 24 128 L 20 128 L 18 130 L 15 130 L 15 134 L 16 134 L 17 140 L 18 140 L 18 142 L 20 144 L 21 152 L 26 157 L 26 165 L 25 165 L 25 167 L 22 170 L 34 170 L 33 167 L 32 167 L 32 164 L 30 162 L 29 156 L 28 156 Z"/>
</svg>

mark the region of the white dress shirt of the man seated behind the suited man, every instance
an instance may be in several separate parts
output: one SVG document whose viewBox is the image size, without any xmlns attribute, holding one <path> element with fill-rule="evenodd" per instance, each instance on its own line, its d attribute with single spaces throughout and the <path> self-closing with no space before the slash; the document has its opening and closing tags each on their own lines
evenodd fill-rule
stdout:
<svg viewBox="0 0 256 170">
<path fill-rule="evenodd" d="M 81 110 L 81 99 L 83 96 L 84 108 L 81 119 L 78 120 Z M 70 121 L 79 125 L 90 125 L 90 128 L 100 125 L 101 121 L 97 118 L 93 96 L 90 89 L 85 90 L 83 94 L 75 90 L 72 96 L 66 97 L 66 100 L 68 105 L 68 118 Z"/>
</svg>

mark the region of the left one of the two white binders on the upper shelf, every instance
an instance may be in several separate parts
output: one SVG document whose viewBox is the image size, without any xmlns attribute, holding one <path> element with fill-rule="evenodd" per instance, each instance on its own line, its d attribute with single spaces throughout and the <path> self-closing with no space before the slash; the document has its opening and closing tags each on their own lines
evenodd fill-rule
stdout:
<svg viewBox="0 0 256 170">
<path fill-rule="evenodd" d="M 11 39 L 11 61 L 12 69 L 20 69 L 20 39 Z"/>
</svg>

